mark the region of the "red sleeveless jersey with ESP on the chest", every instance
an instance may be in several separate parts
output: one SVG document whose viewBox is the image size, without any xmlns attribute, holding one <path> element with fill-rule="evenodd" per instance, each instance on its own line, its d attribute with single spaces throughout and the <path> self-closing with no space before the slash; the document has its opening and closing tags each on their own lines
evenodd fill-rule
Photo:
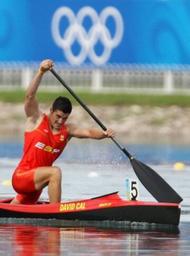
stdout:
<svg viewBox="0 0 190 256">
<path fill-rule="evenodd" d="M 44 118 L 35 130 L 25 132 L 24 154 L 17 168 L 30 170 L 36 167 L 52 166 L 67 145 L 68 131 L 63 125 L 58 134 L 50 130 L 49 119 Z"/>
</svg>

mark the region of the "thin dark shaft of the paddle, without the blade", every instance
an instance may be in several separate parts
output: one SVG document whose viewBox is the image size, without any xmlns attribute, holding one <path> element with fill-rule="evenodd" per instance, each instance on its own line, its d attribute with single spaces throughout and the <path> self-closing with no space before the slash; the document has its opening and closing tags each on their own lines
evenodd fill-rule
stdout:
<svg viewBox="0 0 190 256">
<path fill-rule="evenodd" d="M 74 91 L 65 83 L 65 81 L 60 77 L 58 73 L 55 72 L 54 69 L 50 70 L 52 74 L 62 83 L 62 85 L 72 94 L 72 96 L 80 103 L 80 105 L 89 113 L 89 115 L 97 122 L 97 124 L 103 129 L 107 130 L 106 126 L 102 124 L 102 122 L 94 115 L 94 113 L 84 104 L 84 102 L 77 96 L 77 94 L 74 93 Z M 119 141 L 116 139 L 116 137 L 112 138 L 113 142 L 129 157 L 129 159 L 133 158 L 131 154 L 127 151 L 126 148 L 124 148 Z"/>
</svg>

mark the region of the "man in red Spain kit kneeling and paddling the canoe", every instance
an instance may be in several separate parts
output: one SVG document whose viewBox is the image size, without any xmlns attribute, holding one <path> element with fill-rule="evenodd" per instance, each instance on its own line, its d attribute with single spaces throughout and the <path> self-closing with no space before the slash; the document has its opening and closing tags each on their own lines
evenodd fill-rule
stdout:
<svg viewBox="0 0 190 256">
<path fill-rule="evenodd" d="M 14 171 L 12 184 L 18 195 L 13 199 L 15 204 L 34 204 L 40 197 L 42 189 L 48 186 L 50 203 L 61 201 L 61 169 L 52 166 L 60 156 L 71 137 L 103 139 L 115 134 L 109 128 L 103 131 L 96 128 L 84 129 L 67 124 L 72 105 L 68 98 L 59 97 L 46 115 L 39 110 L 36 91 L 43 74 L 51 70 L 52 60 L 44 60 L 40 69 L 26 91 L 24 154 Z"/>
</svg>

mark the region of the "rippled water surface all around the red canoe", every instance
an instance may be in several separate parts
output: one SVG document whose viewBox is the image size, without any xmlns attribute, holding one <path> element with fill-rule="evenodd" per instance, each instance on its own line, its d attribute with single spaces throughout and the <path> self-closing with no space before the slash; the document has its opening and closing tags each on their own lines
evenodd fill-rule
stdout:
<svg viewBox="0 0 190 256">
<path fill-rule="evenodd" d="M 20 141 L 0 144 L 0 195 L 14 196 L 10 181 L 22 154 Z M 82 149 L 82 150 L 81 150 Z M 178 227 L 122 222 L 7 220 L 0 224 L 0 255 L 189 255 L 190 165 L 188 146 L 127 145 L 130 153 L 156 170 L 184 198 Z M 189 159 L 188 159 L 189 158 Z M 183 170 L 174 170 L 175 162 Z M 119 191 L 126 198 L 126 178 L 137 179 L 115 145 L 74 142 L 56 165 L 62 168 L 62 201 Z M 155 201 L 139 183 L 140 200 Z M 42 199 L 48 200 L 47 189 Z M 13 224 L 14 223 L 14 224 Z M 24 223 L 24 225 L 22 225 Z"/>
</svg>

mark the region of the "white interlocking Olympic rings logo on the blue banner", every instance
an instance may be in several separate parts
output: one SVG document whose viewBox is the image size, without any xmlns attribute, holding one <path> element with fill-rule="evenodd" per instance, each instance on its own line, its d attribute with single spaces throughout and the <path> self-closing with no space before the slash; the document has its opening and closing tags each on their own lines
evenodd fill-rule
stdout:
<svg viewBox="0 0 190 256">
<path fill-rule="evenodd" d="M 68 19 L 69 26 L 62 36 L 60 23 L 63 17 Z M 90 17 L 92 22 L 88 31 L 83 26 L 86 17 Z M 116 24 L 116 31 L 113 36 L 106 26 L 108 17 L 112 17 Z M 104 8 L 99 16 L 90 6 L 82 7 L 76 16 L 69 7 L 60 7 L 53 15 L 51 30 L 55 43 L 62 48 L 65 58 L 71 64 L 79 65 L 89 57 L 93 64 L 101 65 L 109 60 L 112 49 L 121 42 L 124 34 L 124 22 L 119 11 L 112 6 Z M 81 48 L 78 55 L 74 55 L 71 49 L 76 41 Z M 101 55 L 97 55 L 94 50 L 98 41 L 103 45 Z"/>
</svg>

